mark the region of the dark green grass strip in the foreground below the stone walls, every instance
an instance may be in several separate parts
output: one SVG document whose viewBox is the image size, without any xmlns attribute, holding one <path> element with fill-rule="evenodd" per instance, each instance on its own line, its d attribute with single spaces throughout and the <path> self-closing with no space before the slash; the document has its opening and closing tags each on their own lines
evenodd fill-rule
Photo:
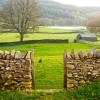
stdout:
<svg viewBox="0 0 100 100">
<path fill-rule="evenodd" d="M 100 81 L 57 93 L 0 92 L 0 100 L 100 100 Z"/>
</svg>

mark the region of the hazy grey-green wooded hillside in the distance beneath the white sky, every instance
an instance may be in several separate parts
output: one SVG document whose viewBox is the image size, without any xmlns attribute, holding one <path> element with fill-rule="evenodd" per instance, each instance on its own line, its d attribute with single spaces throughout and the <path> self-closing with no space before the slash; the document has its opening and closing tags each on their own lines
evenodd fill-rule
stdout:
<svg viewBox="0 0 100 100">
<path fill-rule="evenodd" d="M 100 15 L 100 7 L 76 7 L 53 0 L 39 0 L 39 5 L 40 20 L 46 25 L 84 25 L 87 18 Z"/>
</svg>

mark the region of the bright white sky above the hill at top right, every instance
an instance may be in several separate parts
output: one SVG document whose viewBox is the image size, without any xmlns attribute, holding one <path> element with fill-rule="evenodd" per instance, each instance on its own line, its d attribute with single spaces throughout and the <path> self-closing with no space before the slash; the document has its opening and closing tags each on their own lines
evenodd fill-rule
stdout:
<svg viewBox="0 0 100 100">
<path fill-rule="evenodd" d="M 63 4 L 71 4 L 75 6 L 99 6 L 100 0 L 54 0 Z"/>
</svg>

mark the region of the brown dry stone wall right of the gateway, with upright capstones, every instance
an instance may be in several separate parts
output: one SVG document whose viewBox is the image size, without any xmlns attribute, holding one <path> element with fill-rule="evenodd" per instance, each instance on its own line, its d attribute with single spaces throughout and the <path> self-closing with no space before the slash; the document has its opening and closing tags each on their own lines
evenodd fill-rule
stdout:
<svg viewBox="0 0 100 100">
<path fill-rule="evenodd" d="M 65 88 L 78 87 L 94 80 L 100 80 L 100 50 L 65 52 Z"/>
</svg>

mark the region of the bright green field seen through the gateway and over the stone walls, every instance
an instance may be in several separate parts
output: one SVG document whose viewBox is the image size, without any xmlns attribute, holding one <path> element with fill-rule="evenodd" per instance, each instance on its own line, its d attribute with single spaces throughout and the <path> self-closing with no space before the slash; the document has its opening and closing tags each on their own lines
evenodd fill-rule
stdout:
<svg viewBox="0 0 100 100">
<path fill-rule="evenodd" d="M 68 52 L 75 49 L 90 50 L 99 49 L 100 46 L 83 43 L 52 43 L 52 44 L 24 44 L 15 46 L 0 46 L 1 50 L 20 50 L 25 52 L 34 49 L 35 51 L 35 76 L 36 88 L 63 88 L 63 53 L 64 49 Z M 39 60 L 42 60 L 39 63 Z"/>
</svg>

